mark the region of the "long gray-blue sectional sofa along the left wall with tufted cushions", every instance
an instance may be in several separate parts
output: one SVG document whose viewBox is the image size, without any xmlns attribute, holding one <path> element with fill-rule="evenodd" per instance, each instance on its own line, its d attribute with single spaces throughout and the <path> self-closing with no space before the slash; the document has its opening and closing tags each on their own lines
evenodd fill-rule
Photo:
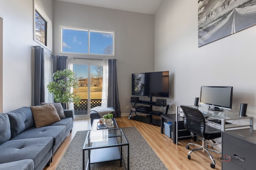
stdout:
<svg viewBox="0 0 256 170">
<path fill-rule="evenodd" d="M 42 170 L 49 166 L 73 127 L 73 111 L 62 111 L 62 119 L 41 127 L 37 127 L 31 107 L 0 113 L 0 170 Z"/>
</svg>

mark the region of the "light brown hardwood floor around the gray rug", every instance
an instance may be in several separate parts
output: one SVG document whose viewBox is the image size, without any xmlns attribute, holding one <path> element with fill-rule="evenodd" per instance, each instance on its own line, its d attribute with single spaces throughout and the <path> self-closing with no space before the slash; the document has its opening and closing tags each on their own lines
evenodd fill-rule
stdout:
<svg viewBox="0 0 256 170">
<path fill-rule="evenodd" d="M 172 139 L 160 133 L 160 127 L 158 126 L 130 120 L 128 117 L 116 118 L 116 121 L 120 128 L 135 126 L 168 170 L 212 170 L 210 167 L 211 160 L 205 152 L 193 152 L 191 154 L 191 160 L 188 160 L 187 154 L 189 150 L 186 149 L 186 144 L 190 141 L 194 142 L 193 140 L 179 141 L 179 145 L 176 145 L 172 142 Z M 68 149 L 76 131 L 90 130 L 90 128 L 90 119 L 76 119 L 72 133 L 66 137 L 58 150 L 54 153 L 51 165 L 44 168 L 44 170 L 55 170 L 66 152 L 66 149 Z M 190 149 L 193 148 L 194 147 L 190 147 Z M 211 154 L 216 161 L 215 169 L 221 170 L 221 160 L 218 160 L 218 157 L 221 155 L 213 152 L 211 152 Z M 153 169 L 154 168 L 152 168 L 152 170 Z"/>
</svg>

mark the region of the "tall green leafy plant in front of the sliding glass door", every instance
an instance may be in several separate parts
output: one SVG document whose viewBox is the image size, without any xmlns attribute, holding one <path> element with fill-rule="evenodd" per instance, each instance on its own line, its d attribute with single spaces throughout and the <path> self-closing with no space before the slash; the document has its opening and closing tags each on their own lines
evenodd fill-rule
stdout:
<svg viewBox="0 0 256 170">
<path fill-rule="evenodd" d="M 53 93 L 55 102 L 66 104 L 66 109 L 69 109 L 70 102 L 80 104 L 80 96 L 72 92 L 72 89 L 77 89 L 78 84 L 72 70 L 64 69 L 57 70 L 53 73 L 54 81 L 47 85 L 50 93 Z"/>
</svg>

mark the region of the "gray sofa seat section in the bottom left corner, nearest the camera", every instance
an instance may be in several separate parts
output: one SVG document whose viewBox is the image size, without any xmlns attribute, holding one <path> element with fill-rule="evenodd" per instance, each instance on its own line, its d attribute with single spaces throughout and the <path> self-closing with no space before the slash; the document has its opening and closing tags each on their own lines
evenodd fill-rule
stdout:
<svg viewBox="0 0 256 170">
<path fill-rule="evenodd" d="M 0 170 L 34 170 L 34 162 L 32 159 L 8 162 L 0 164 Z"/>
</svg>

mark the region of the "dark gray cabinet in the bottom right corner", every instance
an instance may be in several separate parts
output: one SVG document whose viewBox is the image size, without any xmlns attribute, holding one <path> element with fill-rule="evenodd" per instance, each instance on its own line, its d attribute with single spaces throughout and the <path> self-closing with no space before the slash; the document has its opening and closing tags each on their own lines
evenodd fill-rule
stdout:
<svg viewBox="0 0 256 170">
<path fill-rule="evenodd" d="M 255 169 L 256 130 L 222 132 L 222 169 Z"/>
</svg>

